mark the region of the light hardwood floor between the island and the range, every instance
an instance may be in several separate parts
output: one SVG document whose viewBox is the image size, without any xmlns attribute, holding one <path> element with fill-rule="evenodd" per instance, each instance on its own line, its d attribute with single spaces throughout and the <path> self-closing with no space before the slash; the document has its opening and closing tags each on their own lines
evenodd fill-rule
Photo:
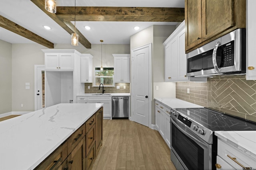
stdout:
<svg viewBox="0 0 256 170">
<path fill-rule="evenodd" d="M 103 143 L 92 170 L 176 170 L 158 131 L 128 119 L 103 120 Z"/>
</svg>

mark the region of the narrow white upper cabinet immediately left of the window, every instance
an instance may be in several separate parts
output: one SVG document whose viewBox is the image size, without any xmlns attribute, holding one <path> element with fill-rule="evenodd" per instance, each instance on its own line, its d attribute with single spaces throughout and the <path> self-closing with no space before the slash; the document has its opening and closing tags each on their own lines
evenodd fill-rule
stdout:
<svg viewBox="0 0 256 170">
<path fill-rule="evenodd" d="M 81 55 L 81 83 L 92 83 L 92 58 L 90 54 Z"/>
</svg>

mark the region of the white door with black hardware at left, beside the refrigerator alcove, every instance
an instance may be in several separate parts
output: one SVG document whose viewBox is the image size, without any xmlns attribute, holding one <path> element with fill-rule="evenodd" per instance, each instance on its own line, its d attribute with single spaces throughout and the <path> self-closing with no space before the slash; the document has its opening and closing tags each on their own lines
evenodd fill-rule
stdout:
<svg viewBox="0 0 256 170">
<path fill-rule="evenodd" d="M 42 102 L 42 71 L 44 71 L 44 65 L 35 65 L 35 110 L 39 110 L 43 108 Z"/>
</svg>

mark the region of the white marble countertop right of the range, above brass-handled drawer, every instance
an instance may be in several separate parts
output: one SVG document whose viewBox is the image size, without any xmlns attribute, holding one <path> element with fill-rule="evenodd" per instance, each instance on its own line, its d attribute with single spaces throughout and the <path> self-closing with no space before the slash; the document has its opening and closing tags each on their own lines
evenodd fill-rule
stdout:
<svg viewBox="0 0 256 170">
<path fill-rule="evenodd" d="M 214 134 L 256 159 L 256 131 L 216 131 Z"/>
</svg>

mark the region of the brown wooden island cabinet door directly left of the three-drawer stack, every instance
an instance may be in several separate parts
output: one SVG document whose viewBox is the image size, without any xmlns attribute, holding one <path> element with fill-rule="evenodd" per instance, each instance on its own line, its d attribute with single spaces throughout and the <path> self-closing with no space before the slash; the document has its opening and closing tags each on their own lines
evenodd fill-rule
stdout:
<svg viewBox="0 0 256 170">
<path fill-rule="evenodd" d="M 67 158 L 68 170 L 85 170 L 85 136 Z"/>
</svg>

